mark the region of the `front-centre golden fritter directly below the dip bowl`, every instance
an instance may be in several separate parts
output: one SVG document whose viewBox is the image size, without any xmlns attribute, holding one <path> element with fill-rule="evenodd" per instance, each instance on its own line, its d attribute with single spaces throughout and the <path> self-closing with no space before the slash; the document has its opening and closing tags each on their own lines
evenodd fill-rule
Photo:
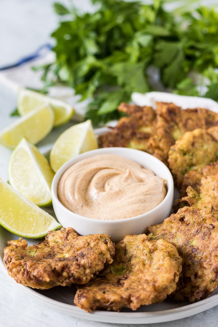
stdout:
<svg viewBox="0 0 218 327">
<path fill-rule="evenodd" d="M 74 303 L 95 309 L 136 310 L 163 301 L 176 289 L 182 259 L 165 240 L 148 241 L 145 234 L 127 235 L 116 244 L 114 262 L 92 281 L 79 287 Z"/>
</svg>

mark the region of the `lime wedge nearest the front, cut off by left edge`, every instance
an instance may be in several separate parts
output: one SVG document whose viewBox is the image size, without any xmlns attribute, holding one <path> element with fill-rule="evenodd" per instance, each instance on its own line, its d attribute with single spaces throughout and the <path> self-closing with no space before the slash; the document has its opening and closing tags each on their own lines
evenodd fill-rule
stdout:
<svg viewBox="0 0 218 327">
<path fill-rule="evenodd" d="M 40 238 L 61 225 L 47 212 L 37 207 L 0 179 L 0 224 L 23 237 Z"/>
</svg>

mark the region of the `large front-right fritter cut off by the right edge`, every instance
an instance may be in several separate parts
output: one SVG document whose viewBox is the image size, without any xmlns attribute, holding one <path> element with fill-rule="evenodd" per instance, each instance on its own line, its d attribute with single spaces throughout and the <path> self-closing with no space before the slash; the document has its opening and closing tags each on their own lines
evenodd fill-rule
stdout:
<svg viewBox="0 0 218 327">
<path fill-rule="evenodd" d="M 205 299 L 218 286 L 218 222 L 192 207 L 179 209 L 162 224 L 150 226 L 148 238 L 176 245 L 182 274 L 172 296 L 176 301 Z"/>
</svg>

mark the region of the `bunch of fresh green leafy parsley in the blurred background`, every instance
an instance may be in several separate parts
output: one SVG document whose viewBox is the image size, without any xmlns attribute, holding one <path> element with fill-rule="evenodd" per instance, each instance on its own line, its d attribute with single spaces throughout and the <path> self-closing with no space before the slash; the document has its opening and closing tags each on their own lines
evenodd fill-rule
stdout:
<svg viewBox="0 0 218 327">
<path fill-rule="evenodd" d="M 52 33 L 56 61 L 43 66 L 42 79 L 64 83 L 91 98 L 87 117 L 94 125 L 119 117 L 117 106 L 132 92 L 152 91 L 147 69 L 159 70 L 163 87 L 185 95 L 201 95 L 190 72 L 208 84 L 205 96 L 218 100 L 218 13 L 200 7 L 180 15 L 164 10 L 160 0 L 100 0 L 94 13 L 55 3 L 62 20 Z M 177 12 L 178 13 L 178 12 Z M 66 15 L 66 18 L 64 17 Z M 63 20 L 64 18 L 64 20 Z M 48 73 L 53 80 L 48 80 Z"/>
</svg>

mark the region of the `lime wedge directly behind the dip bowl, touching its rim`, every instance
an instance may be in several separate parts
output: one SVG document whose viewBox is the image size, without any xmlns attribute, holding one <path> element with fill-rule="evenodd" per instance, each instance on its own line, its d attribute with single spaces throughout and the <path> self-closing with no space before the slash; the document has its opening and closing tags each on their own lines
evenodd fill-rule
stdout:
<svg viewBox="0 0 218 327">
<path fill-rule="evenodd" d="M 80 153 L 98 148 L 91 120 L 65 130 L 56 140 L 50 153 L 50 164 L 56 172 L 64 163 Z"/>
</svg>

